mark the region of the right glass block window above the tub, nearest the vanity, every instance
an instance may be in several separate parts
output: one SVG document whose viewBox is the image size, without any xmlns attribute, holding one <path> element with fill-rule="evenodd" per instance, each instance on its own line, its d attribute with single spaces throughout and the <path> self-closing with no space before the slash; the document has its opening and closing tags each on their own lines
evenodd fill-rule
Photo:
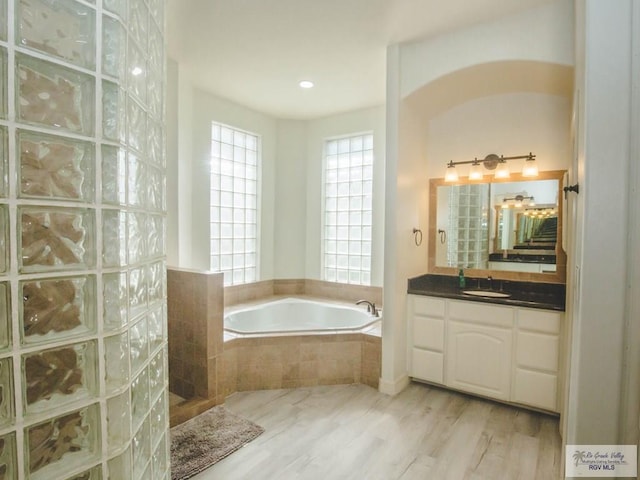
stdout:
<svg viewBox="0 0 640 480">
<path fill-rule="evenodd" d="M 323 280 L 371 284 L 373 134 L 325 142 Z"/>
</svg>

